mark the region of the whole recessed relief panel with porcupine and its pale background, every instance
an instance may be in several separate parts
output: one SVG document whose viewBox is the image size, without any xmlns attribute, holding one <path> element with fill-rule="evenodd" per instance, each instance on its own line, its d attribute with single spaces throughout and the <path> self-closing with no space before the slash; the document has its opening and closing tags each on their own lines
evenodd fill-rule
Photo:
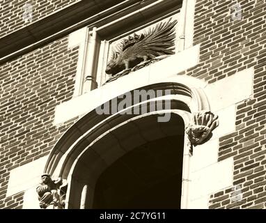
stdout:
<svg viewBox="0 0 266 223">
<path fill-rule="evenodd" d="M 105 70 L 111 78 L 106 83 L 175 54 L 177 24 L 171 17 L 112 43 Z"/>
</svg>

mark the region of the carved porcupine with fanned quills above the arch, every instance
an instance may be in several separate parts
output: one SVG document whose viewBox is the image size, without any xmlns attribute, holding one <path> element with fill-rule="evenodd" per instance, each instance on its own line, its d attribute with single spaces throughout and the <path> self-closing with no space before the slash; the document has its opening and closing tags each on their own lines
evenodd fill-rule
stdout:
<svg viewBox="0 0 266 223">
<path fill-rule="evenodd" d="M 161 22 L 146 33 L 129 36 L 123 40 L 117 52 L 112 52 L 105 72 L 116 75 L 118 72 L 134 68 L 141 62 L 154 59 L 157 56 L 174 54 L 175 29 L 177 21 Z"/>
</svg>

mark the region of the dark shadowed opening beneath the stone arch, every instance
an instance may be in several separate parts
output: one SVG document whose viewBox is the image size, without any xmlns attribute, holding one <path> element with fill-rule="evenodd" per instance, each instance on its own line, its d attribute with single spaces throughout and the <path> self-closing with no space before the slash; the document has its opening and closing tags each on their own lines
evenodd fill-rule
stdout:
<svg viewBox="0 0 266 223">
<path fill-rule="evenodd" d="M 128 151 L 103 171 L 95 185 L 92 208 L 180 208 L 184 146 L 182 118 L 171 114 L 168 123 L 157 123 L 155 117 L 148 116 L 141 118 L 136 125 L 149 126 L 147 132 L 140 132 L 143 135 L 161 134 L 157 134 L 157 139 Z M 139 132 L 132 131 L 132 134 Z"/>
</svg>

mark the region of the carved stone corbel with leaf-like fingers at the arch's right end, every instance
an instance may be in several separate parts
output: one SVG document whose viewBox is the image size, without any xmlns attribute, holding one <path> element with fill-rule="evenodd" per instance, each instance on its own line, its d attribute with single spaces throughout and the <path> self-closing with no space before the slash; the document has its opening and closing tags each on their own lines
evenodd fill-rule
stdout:
<svg viewBox="0 0 266 223">
<path fill-rule="evenodd" d="M 212 137 L 212 130 L 217 128 L 218 125 L 218 116 L 210 111 L 201 111 L 193 114 L 191 123 L 189 123 L 185 129 L 191 144 L 191 155 L 193 153 L 193 146 L 208 141 Z"/>
</svg>

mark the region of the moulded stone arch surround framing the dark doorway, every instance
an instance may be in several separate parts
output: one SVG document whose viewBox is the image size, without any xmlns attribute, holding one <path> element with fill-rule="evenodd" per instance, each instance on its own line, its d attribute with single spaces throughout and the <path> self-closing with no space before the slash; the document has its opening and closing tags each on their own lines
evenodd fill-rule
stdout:
<svg viewBox="0 0 266 223">
<path fill-rule="evenodd" d="M 54 177 L 60 176 L 65 179 L 67 178 L 68 180 L 68 192 L 66 194 L 65 208 L 93 207 L 93 196 L 97 179 L 108 167 L 111 166 L 112 163 L 116 162 L 116 160 L 125 155 L 125 153 L 123 153 L 123 149 L 118 149 L 116 153 L 114 153 L 114 160 L 108 164 L 108 162 L 104 161 L 104 159 L 102 159 L 98 153 L 94 153 L 94 149 L 91 148 L 100 144 L 102 144 L 103 147 L 104 143 L 106 142 L 108 142 L 109 147 L 111 145 L 120 145 L 121 140 L 118 140 L 116 139 L 117 137 L 114 137 L 113 133 L 115 131 L 123 130 L 122 127 L 125 126 L 127 126 L 127 129 L 131 129 L 128 128 L 128 126 L 134 123 L 136 120 L 141 119 L 141 126 L 144 126 L 146 122 L 143 122 L 143 118 L 148 116 L 174 114 L 173 116 L 179 117 L 176 118 L 176 120 L 182 120 L 182 127 L 178 129 L 181 130 L 182 135 L 184 135 L 184 126 L 187 126 L 191 121 L 191 109 L 192 111 L 208 109 L 208 102 L 205 101 L 203 92 L 198 92 L 196 89 L 191 90 L 184 84 L 166 82 L 143 86 L 141 89 L 146 91 L 148 89 L 169 89 L 171 91 L 170 95 L 153 98 L 152 100 L 155 100 L 162 105 L 164 105 L 166 102 L 169 102 L 171 104 L 171 109 L 165 109 L 164 106 L 161 106 L 159 109 L 156 107 L 155 111 L 146 109 L 145 114 L 133 114 L 131 116 L 120 115 L 119 112 L 116 114 L 99 116 L 96 114 L 95 110 L 93 110 L 79 119 L 77 123 L 75 123 L 67 132 L 65 132 L 63 137 L 58 141 L 53 151 L 50 153 L 47 165 L 45 167 L 45 172 Z M 201 97 L 202 95 L 203 97 Z M 203 99 L 201 100 L 201 98 Z M 150 99 L 141 101 L 141 103 L 147 107 L 149 102 Z M 136 109 L 136 107 L 142 106 L 141 103 L 134 104 L 132 107 L 126 109 Z M 152 130 L 153 128 L 150 129 Z M 166 129 L 171 130 L 169 126 Z M 177 130 L 172 130 L 171 132 L 176 131 Z M 138 132 L 138 130 L 135 130 L 135 132 Z M 120 135 L 125 136 L 125 131 L 122 131 L 122 134 Z M 153 136 L 153 134 L 150 135 Z M 169 137 L 171 136 L 173 135 L 170 134 Z M 150 139 L 150 142 L 157 139 L 162 139 L 164 137 L 165 135 L 155 139 Z M 128 141 L 130 140 L 127 138 L 127 142 Z M 187 138 L 185 137 L 184 146 L 181 149 L 183 152 L 181 159 L 182 162 L 179 162 L 182 163 L 181 208 L 187 207 L 188 197 L 190 146 L 188 146 L 187 142 Z M 147 141 L 142 141 L 142 143 L 139 145 L 127 143 L 128 146 L 122 147 L 130 148 L 130 146 L 133 146 L 133 150 L 133 148 L 137 148 L 138 146 L 146 143 Z M 101 148 L 101 146 L 98 146 L 98 148 Z M 81 171 L 81 169 L 84 171 Z M 78 172 L 79 174 L 77 174 Z M 91 172 L 90 180 L 88 180 L 88 174 L 86 174 L 88 172 Z M 85 174 L 85 176 L 82 176 L 82 174 Z"/>
</svg>

